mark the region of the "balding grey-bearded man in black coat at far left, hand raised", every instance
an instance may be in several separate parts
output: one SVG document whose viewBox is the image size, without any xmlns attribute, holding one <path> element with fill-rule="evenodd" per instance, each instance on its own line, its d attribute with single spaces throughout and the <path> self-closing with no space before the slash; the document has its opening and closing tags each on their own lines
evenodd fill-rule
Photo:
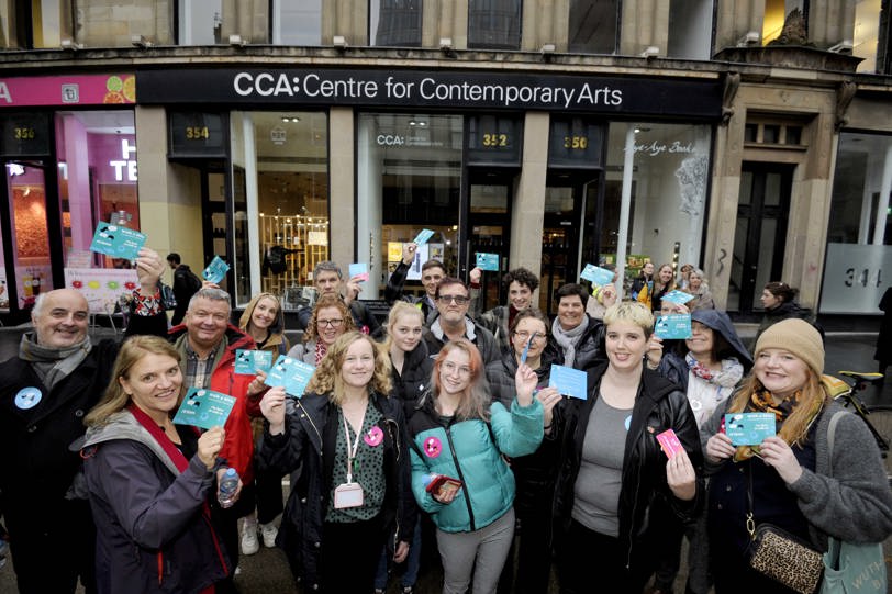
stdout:
<svg viewBox="0 0 892 594">
<path fill-rule="evenodd" d="M 155 251 L 140 250 L 131 320 L 156 332 L 167 327 L 156 293 L 163 270 Z M 73 289 L 41 294 L 31 321 L 19 355 L 0 366 L 0 508 L 12 564 L 23 594 L 71 593 L 78 578 L 94 592 L 96 529 L 76 495 L 81 460 L 69 446 L 109 384 L 118 344 L 91 341 L 87 300 Z"/>
</svg>

